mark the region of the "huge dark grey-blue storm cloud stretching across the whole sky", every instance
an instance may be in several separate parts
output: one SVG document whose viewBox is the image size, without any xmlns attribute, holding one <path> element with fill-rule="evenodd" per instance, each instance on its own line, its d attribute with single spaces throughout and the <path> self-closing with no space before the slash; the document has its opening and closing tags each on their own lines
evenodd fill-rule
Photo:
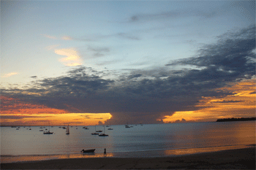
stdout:
<svg viewBox="0 0 256 170">
<path fill-rule="evenodd" d="M 1 92 L 68 112 L 110 112 L 109 124 L 160 123 L 159 117 L 164 115 L 200 109 L 195 105 L 202 96 L 232 95 L 232 91 L 220 88 L 255 76 L 253 50 L 255 26 L 250 26 L 219 36 L 216 44 L 202 47 L 194 57 L 161 68 L 112 72 L 116 78 L 110 80 L 106 78 L 110 72 L 79 66 L 66 76 L 37 80 L 31 84 L 33 88 Z M 197 69 L 171 70 L 172 66 Z"/>
</svg>

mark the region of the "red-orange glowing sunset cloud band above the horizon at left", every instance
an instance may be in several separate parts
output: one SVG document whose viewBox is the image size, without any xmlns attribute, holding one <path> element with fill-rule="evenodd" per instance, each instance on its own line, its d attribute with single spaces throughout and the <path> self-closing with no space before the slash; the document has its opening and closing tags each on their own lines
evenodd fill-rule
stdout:
<svg viewBox="0 0 256 170">
<path fill-rule="evenodd" d="M 1 125 L 97 125 L 112 117 L 110 113 L 69 113 L 17 98 L 1 96 Z"/>
</svg>

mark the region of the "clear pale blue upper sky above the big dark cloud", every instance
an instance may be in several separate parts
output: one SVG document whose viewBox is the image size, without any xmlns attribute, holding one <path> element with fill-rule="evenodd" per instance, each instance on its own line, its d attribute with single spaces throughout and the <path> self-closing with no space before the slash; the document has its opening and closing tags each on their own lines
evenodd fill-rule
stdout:
<svg viewBox="0 0 256 170">
<path fill-rule="evenodd" d="M 253 23 L 253 1 L 1 1 L 1 70 L 19 73 L 1 82 L 64 74 L 63 48 L 99 71 L 165 66 Z"/>
</svg>

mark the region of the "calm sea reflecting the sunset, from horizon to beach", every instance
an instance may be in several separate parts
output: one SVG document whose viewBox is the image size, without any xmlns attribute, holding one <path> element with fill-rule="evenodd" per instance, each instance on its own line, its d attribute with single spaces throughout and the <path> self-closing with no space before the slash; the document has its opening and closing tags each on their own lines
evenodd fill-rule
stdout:
<svg viewBox="0 0 256 170">
<path fill-rule="evenodd" d="M 148 158 L 255 145 L 255 121 L 97 126 L 1 127 L 1 163 L 63 158 Z M 53 134 L 43 134 L 50 128 Z M 113 130 L 108 130 L 113 128 Z M 16 130 L 18 129 L 18 130 Z M 30 130 L 31 129 L 31 130 Z M 101 130 L 108 136 L 91 135 Z M 95 149 L 94 153 L 81 150 Z"/>
</svg>

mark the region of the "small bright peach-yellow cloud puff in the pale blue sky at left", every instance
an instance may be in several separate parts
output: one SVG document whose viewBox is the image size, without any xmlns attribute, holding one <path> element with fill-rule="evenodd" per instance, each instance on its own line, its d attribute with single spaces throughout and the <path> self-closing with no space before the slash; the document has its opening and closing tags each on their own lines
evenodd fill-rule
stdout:
<svg viewBox="0 0 256 170">
<path fill-rule="evenodd" d="M 59 61 L 65 66 L 80 66 L 82 64 L 82 60 L 78 55 L 78 52 L 72 48 L 54 50 L 54 52 L 58 55 L 67 56 L 66 58 L 59 59 Z"/>
</svg>

